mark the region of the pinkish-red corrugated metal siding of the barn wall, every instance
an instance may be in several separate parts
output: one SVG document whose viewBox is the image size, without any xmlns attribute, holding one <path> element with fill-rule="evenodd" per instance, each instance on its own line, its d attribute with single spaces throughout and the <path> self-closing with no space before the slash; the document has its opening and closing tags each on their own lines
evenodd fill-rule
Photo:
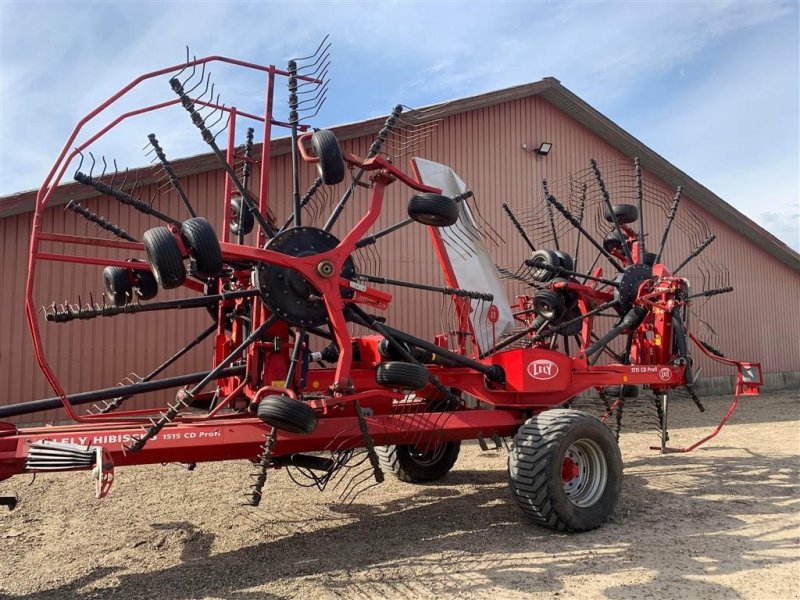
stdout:
<svg viewBox="0 0 800 600">
<path fill-rule="evenodd" d="M 531 145 L 542 141 L 553 144 L 546 158 L 538 158 L 521 149 L 523 143 Z M 349 151 L 366 155 L 371 142 L 371 138 L 364 137 L 349 140 L 344 146 Z M 512 206 L 538 204 L 541 201 L 539 190 L 542 178 L 550 181 L 561 179 L 570 172 L 586 168 L 590 158 L 595 158 L 601 164 L 628 158 L 538 97 L 448 117 L 434 131 L 420 155 L 450 165 L 475 192 L 482 216 L 506 240 L 505 244 L 490 247 L 496 262 L 503 265 L 518 265 L 526 255 L 523 242 L 501 209 L 503 202 Z M 290 203 L 288 155 L 273 158 L 270 175 L 272 207 L 283 219 Z M 305 188 L 310 185 L 314 177 L 313 170 L 304 166 L 302 186 Z M 645 177 L 649 175 L 645 174 Z M 257 170 L 253 181 L 258 181 Z M 221 172 L 191 176 L 184 185 L 199 214 L 206 215 L 219 227 L 222 219 Z M 665 195 L 672 195 L 670 188 L 665 185 L 662 187 Z M 341 184 L 331 190 L 331 203 L 341 196 L 344 189 L 344 184 Z M 154 192 L 153 189 L 147 189 L 144 197 L 149 198 Z M 405 218 L 409 195 L 409 190 L 402 184 L 390 187 L 376 230 Z M 367 199 L 368 192 L 360 189 L 350 200 L 334 233 L 341 235 L 352 227 L 363 213 Z M 162 193 L 157 202 L 162 210 L 181 215 L 181 206 L 174 193 Z M 693 204 L 690 198 L 684 202 Z M 148 227 L 157 225 L 152 219 L 113 200 L 94 198 L 84 204 L 136 237 L 140 237 Z M 767 371 L 800 369 L 800 344 L 797 341 L 800 339 L 800 322 L 797 320 L 800 276 L 724 225 L 714 215 L 705 213 L 702 207 L 694 205 L 694 208 L 708 220 L 711 231 L 717 235 L 717 241 L 707 250 L 708 255 L 728 268 L 731 284 L 736 288 L 734 294 L 710 300 L 713 309 L 707 314 L 712 316 L 711 320 L 719 332 L 720 348 L 730 356 L 760 360 Z M 328 212 L 329 208 L 322 211 L 318 224 L 324 221 Z M 649 210 L 646 218 L 648 230 L 652 232 L 660 227 L 663 216 Z M 0 404 L 52 395 L 35 365 L 23 315 L 30 224 L 29 214 L 0 220 L 3 257 L 0 299 L 5 309 L 0 316 L 3 332 L 0 336 L 0 381 L 5 390 Z M 84 232 L 88 235 L 95 233 L 93 226 L 84 224 L 71 213 L 65 214 L 60 207 L 47 212 L 44 230 Z M 377 244 L 377 249 L 381 256 L 380 265 L 369 267 L 376 274 L 422 283 L 443 283 L 425 227 L 412 225 L 402 233 L 383 238 Z M 667 263 L 676 265 L 688 250 L 668 246 Z M 74 251 L 111 256 L 107 250 L 97 248 L 76 247 Z M 581 264 L 585 266 L 593 258 L 588 244 L 582 242 Z M 98 268 L 40 263 L 36 298 L 42 305 L 52 301 L 76 302 L 79 295 L 86 302 L 89 292 L 94 292 L 95 298 L 99 298 L 101 291 Z M 394 288 L 390 291 L 395 296 L 387 313 L 390 323 L 426 338 L 440 331 L 441 316 L 447 313 L 446 301 L 413 290 Z M 159 298 L 175 297 L 180 293 L 161 292 Z M 43 322 L 42 330 L 47 356 L 56 373 L 68 392 L 78 392 L 115 385 L 131 372 L 144 375 L 207 323 L 205 311 L 199 309 L 119 316 L 65 325 Z M 205 369 L 210 362 L 210 353 L 209 341 L 179 361 L 167 374 Z M 726 374 L 713 363 L 705 365 L 704 373 L 709 376 Z M 163 404 L 171 395 L 171 392 L 155 394 L 146 401 L 132 403 L 131 408 L 142 408 L 145 402 L 147 405 Z M 31 420 L 60 418 L 60 411 L 51 411 L 33 415 Z"/>
</svg>

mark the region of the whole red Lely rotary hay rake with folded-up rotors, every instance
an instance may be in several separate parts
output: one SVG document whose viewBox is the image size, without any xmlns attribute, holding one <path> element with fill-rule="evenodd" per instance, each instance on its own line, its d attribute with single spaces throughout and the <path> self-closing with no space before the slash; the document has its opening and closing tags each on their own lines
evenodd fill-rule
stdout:
<svg viewBox="0 0 800 600">
<path fill-rule="evenodd" d="M 486 439 L 500 447 L 503 438 L 513 437 L 509 479 L 519 506 L 539 524 L 581 531 L 597 527 L 612 512 L 621 489 L 622 460 L 604 421 L 616 415 L 618 436 L 623 407 L 635 404 L 641 387 L 649 389 L 661 431 L 659 447 L 674 451 L 667 446 L 670 393 L 683 390 L 702 408 L 693 389 L 693 343 L 736 369 L 736 392 L 719 427 L 677 451 L 716 435 L 739 395 L 757 393 L 758 364 L 724 358 L 713 340 L 701 340 L 689 328 L 698 300 L 730 288 L 724 282 L 707 285 L 712 276 L 724 279 L 724 273 L 702 265 L 702 252 L 713 238 L 690 211 L 680 216 L 680 189 L 670 202 L 643 182 L 638 161 L 610 170 L 592 162 L 566 182 L 545 182 L 544 204 L 504 205 L 530 256 L 519 267 L 496 267 L 487 245 L 499 243 L 500 236 L 480 216 L 467 184 L 449 167 L 429 160 L 411 159 L 410 175 L 393 162 L 424 148 L 441 107 L 397 106 L 366 157 L 344 152 L 331 131 L 309 127 L 327 94 L 329 48 L 324 41 L 312 56 L 290 61 L 285 70 L 187 53 L 185 64 L 139 77 L 78 124 L 36 199 L 26 286 L 36 359 L 57 397 L 0 408 L 0 418 L 63 408 L 75 424 L 17 428 L 0 423 L 0 479 L 91 470 L 97 496 L 103 497 L 115 466 L 247 459 L 255 468 L 247 493 L 251 505 L 258 505 L 267 475 L 276 468 L 286 468 L 300 485 L 331 485 L 343 501 L 352 502 L 383 481 L 386 471 L 412 483 L 443 477 L 462 440 L 477 439 L 487 449 Z M 220 104 L 206 74 L 211 63 L 264 73 L 264 114 Z M 151 79 L 168 81 L 165 88 L 175 96 L 123 113 L 86 137 L 84 129 L 101 111 Z M 289 91 L 285 121 L 273 117 L 280 80 Z M 90 148 L 96 140 L 122 121 L 175 105 L 185 109 L 224 170 L 217 231 L 198 216 L 155 135 L 147 147 L 162 170 L 159 183 L 177 196 L 169 207 L 144 199 L 143 183 L 131 184 L 116 165 L 107 175 L 105 159 L 102 173 L 94 175 Z M 242 120 L 260 123 L 260 156 L 254 153 L 253 128 L 237 146 L 236 125 Z M 288 215 L 279 214 L 281 205 L 271 204 L 266 192 L 273 128 L 290 133 Z M 225 148 L 217 143 L 223 132 Z M 84 152 L 91 160 L 88 173 L 82 170 Z M 45 231 L 44 211 L 75 162 L 76 181 L 161 225 L 149 223 L 139 239 L 71 202 L 67 208 L 76 220 L 70 222 L 83 219 L 113 237 Z M 300 187 L 304 169 L 316 171 L 305 192 Z M 344 192 L 336 200 L 339 184 Z M 411 190 L 408 218 L 375 231 L 385 191 L 393 184 Z M 350 201 L 356 195 L 365 195 L 366 209 L 334 236 L 345 210 L 355 210 Z M 658 238 L 645 231 L 646 206 L 651 214 L 660 209 L 665 216 Z M 186 218 L 174 216 L 179 212 Z M 319 226 L 308 224 L 326 214 Z M 420 224 L 430 233 L 444 286 L 378 274 L 380 240 Z M 648 226 L 654 230 L 654 224 Z M 662 254 L 672 229 L 684 241 L 700 238 L 687 259 L 670 270 Z M 572 255 L 567 243 L 575 244 Z M 581 244 L 597 258 L 579 269 Z M 71 251 L 81 246 L 111 257 Z M 136 258 L 117 258 L 124 254 Z M 89 265 L 98 274 L 102 269 L 102 301 L 90 296 L 88 303 L 53 303 L 37 310 L 37 268 L 52 261 L 65 269 Z M 679 275 L 692 261 L 703 276 L 701 291 Z M 523 288 L 513 304 L 509 284 Z M 392 300 L 386 289 L 397 287 L 446 300 L 448 322 L 434 340 L 393 327 L 381 316 Z M 156 300 L 162 290 L 194 295 Z M 189 308 L 205 309 L 212 318 L 199 335 L 146 376 L 90 392 L 65 391 L 40 333 L 42 318 L 48 326 L 69 327 L 75 321 Z M 695 321 L 704 322 L 699 316 Z M 214 340 L 210 370 L 159 377 L 209 338 Z M 178 391 L 162 409 L 125 409 L 132 398 L 166 389 Z M 576 410 L 578 403 L 601 406 L 600 418 Z M 85 404 L 92 407 L 82 411 Z"/>
</svg>

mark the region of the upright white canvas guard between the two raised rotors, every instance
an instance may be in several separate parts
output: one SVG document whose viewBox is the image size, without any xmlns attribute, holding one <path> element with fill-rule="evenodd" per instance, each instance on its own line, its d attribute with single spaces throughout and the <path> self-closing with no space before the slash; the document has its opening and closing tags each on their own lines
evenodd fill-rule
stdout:
<svg viewBox="0 0 800 600">
<path fill-rule="evenodd" d="M 467 184 L 448 167 L 424 158 L 414 158 L 420 181 L 437 187 L 445 196 L 457 196 L 467 191 Z M 497 267 L 481 239 L 475 219 L 466 202 L 459 203 L 459 221 L 452 227 L 440 227 L 439 235 L 453 267 L 457 286 L 473 292 L 492 294 L 498 319 L 494 325 L 488 319 L 488 305 L 471 300 L 470 323 L 481 352 L 492 347 L 501 337 L 514 331 L 514 316 Z"/>
</svg>

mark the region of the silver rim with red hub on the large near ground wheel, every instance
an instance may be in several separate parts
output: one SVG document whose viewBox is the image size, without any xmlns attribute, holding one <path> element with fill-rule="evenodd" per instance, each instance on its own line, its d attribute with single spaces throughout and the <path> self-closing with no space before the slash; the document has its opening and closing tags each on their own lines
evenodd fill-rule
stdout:
<svg viewBox="0 0 800 600">
<path fill-rule="evenodd" d="M 567 448 L 561 461 L 564 493 L 575 506 L 595 504 L 606 489 L 608 465 L 597 442 L 576 440 Z"/>
</svg>

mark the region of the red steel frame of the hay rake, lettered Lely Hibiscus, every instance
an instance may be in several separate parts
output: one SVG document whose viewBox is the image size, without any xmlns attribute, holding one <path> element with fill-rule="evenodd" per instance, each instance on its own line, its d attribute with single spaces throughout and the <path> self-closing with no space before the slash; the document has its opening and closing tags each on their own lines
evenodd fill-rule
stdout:
<svg viewBox="0 0 800 600">
<path fill-rule="evenodd" d="M 267 214 L 269 208 L 269 140 L 271 127 L 272 125 L 286 125 L 272 118 L 272 91 L 275 77 L 288 76 L 288 72 L 276 69 L 274 66 L 260 66 L 224 57 L 212 56 L 190 61 L 187 65 L 168 67 L 143 75 L 133 80 L 109 100 L 84 117 L 68 138 L 58 159 L 48 173 L 44 184 L 37 194 L 36 212 L 33 220 L 28 262 L 29 274 L 25 288 L 25 310 L 37 363 L 53 390 L 61 397 L 67 416 L 79 423 L 79 425 L 17 430 L 17 428 L 12 425 L 0 423 L 0 479 L 24 471 L 28 444 L 45 439 L 68 441 L 81 445 L 102 446 L 104 451 L 107 452 L 109 459 L 116 465 L 159 462 L 201 462 L 241 458 L 252 459 L 258 454 L 263 444 L 266 426 L 257 418 L 248 414 L 231 415 L 222 413 L 222 409 L 226 408 L 229 403 L 242 392 L 247 392 L 248 397 L 254 401 L 258 400 L 260 394 L 270 391 L 278 391 L 289 395 L 292 394 L 292 392 L 287 389 L 276 389 L 269 386 L 253 389 L 252 382 L 255 381 L 255 378 L 251 370 L 251 365 L 256 364 L 256 361 L 251 360 L 251 358 L 253 358 L 252 352 L 266 347 L 263 343 L 257 343 L 254 345 L 255 349 L 248 350 L 247 375 L 242 377 L 241 380 L 233 378 L 233 381 L 222 382 L 225 398 L 211 413 L 203 416 L 179 416 L 175 422 L 168 424 L 159 434 L 152 438 L 141 451 L 132 454 L 126 450 L 126 446 L 133 437 L 141 431 L 142 419 L 153 411 L 124 411 L 117 413 L 115 416 L 77 414 L 74 407 L 69 402 L 58 378 L 48 364 L 42 347 L 42 340 L 37 322 L 37 310 L 33 303 L 33 285 L 36 274 L 36 264 L 39 260 L 67 261 L 102 266 L 130 266 L 130 263 L 126 261 L 43 252 L 40 250 L 40 244 L 42 242 L 100 245 L 131 251 L 143 250 L 142 244 L 139 243 L 42 232 L 42 215 L 52 198 L 55 188 L 60 183 L 72 159 L 118 123 L 130 117 L 172 106 L 177 104 L 179 100 L 162 102 L 124 113 L 100 129 L 86 142 L 77 146 L 69 154 L 68 149 L 72 146 L 80 131 L 89 121 L 142 81 L 178 71 L 185 66 L 193 67 L 212 61 L 229 63 L 267 73 L 265 113 L 263 116 L 243 113 L 234 107 L 222 107 L 206 103 L 212 108 L 225 110 L 230 114 L 228 136 L 229 162 L 231 162 L 233 158 L 232 152 L 237 116 L 243 116 L 263 123 L 264 143 L 261 156 L 258 206 L 262 214 Z M 300 136 L 298 149 L 307 162 L 313 163 L 317 159 L 310 156 L 305 148 L 305 142 L 309 136 L 310 133 Z M 672 277 L 662 265 L 657 265 L 655 269 L 655 275 L 658 277 L 657 283 L 647 290 L 643 288 L 639 297 L 639 302 L 643 305 L 658 309 L 650 313 L 648 320 L 642 325 L 641 333 L 637 335 L 634 346 L 638 353 L 636 358 L 639 364 L 590 366 L 584 351 L 591 343 L 590 333 L 592 321 L 591 319 L 586 319 L 581 334 L 583 344 L 574 357 L 569 357 L 565 354 L 541 347 L 533 347 L 500 351 L 483 359 L 481 362 L 484 364 L 498 365 L 503 368 L 507 377 L 504 385 L 489 383 L 482 374 L 469 368 L 429 367 L 430 372 L 440 380 L 442 385 L 454 387 L 462 392 L 471 394 L 481 401 L 492 405 L 495 409 L 459 410 L 448 417 L 444 423 L 440 423 L 435 415 L 419 412 L 412 416 L 412 426 L 409 426 L 407 415 L 403 417 L 406 420 L 400 423 L 393 413 L 393 403 L 402 399 L 403 396 L 378 386 L 374 380 L 374 367 L 380 362 L 380 358 L 377 357 L 374 352 L 370 357 L 370 351 L 374 350 L 376 340 L 370 339 L 369 337 L 355 340 L 364 347 L 364 355 L 366 358 L 362 356 L 359 362 L 354 362 L 352 347 L 352 342 L 354 340 L 350 336 L 344 317 L 344 308 L 347 303 L 365 304 L 373 308 L 383 309 L 386 308 L 391 300 L 391 295 L 371 287 L 355 284 L 350 280 L 338 276 L 326 277 L 320 274 L 318 266 L 323 261 L 327 261 L 332 264 L 333 273 L 341 272 L 345 261 L 355 250 L 356 243 L 364 237 L 378 219 L 383 204 L 384 191 L 386 186 L 390 185 L 392 182 L 400 180 L 409 188 L 420 192 L 440 193 L 441 190 L 422 184 L 418 180 L 418 173 L 415 173 L 417 179 L 409 177 L 391 162 L 380 156 L 363 160 L 351 154 L 346 154 L 345 160 L 351 166 L 363 168 L 370 174 L 371 196 L 368 209 L 358 223 L 344 236 L 334 249 L 308 257 L 290 257 L 265 249 L 263 246 L 266 242 L 266 233 L 260 228 L 257 232 L 259 240 L 257 246 L 243 246 L 230 243 L 227 225 L 231 219 L 230 201 L 232 196 L 232 183 L 226 176 L 224 193 L 225 211 L 222 228 L 223 239 L 220 244 L 224 258 L 228 261 L 246 260 L 263 262 L 287 267 L 300 273 L 323 297 L 328 310 L 331 328 L 340 349 L 340 356 L 335 369 L 314 369 L 309 371 L 309 379 L 313 379 L 313 382 L 309 384 L 309 390 L 329 389 L 331 391 L 329 396 L 312 402 L 312 406 L 321 413 L 317 429 L 312 434 L 304 436 L 281 433 L 273 450 L 275 456 L 294 452 L 325 450 L 330 447 L 334 439 L 337 440 L 337 447 L 339 449 L 360 445 L 362 443 L 362 438 L 358 429 L 358 420 L 355 416 L 353 405 L 355 400 L 370 405 L 372 408 L 372 415 L 367 417 L 367 421 L 370 425 L 370 432 L 376 444 L 385 445 L 412 443 L 412 440 L 413 443 L 422 443 L 434 439 L 437 441 L 467 439 L 475 438 L 480 434 L 487 436 L 491 436 L 492 434 L 499 434 L 501 436 L 512 435 L 522 421 L 531 413 L 559 406 L 582 391 L 592 387 L 620 384 L 646 384 L 650 385 L 654 390 L 667 390 L 685 384 L 685 366 L 672 365 L 670 363 L 670 349 L 672 347 L 671 322 L 663 318 L 663 315 L 667 311 L 673 310 L 678 306 L 674 300 L 674 293 L 684 285 L 684 280 L 678 277 Z M 413 168 L 414 165 L 412 163 L 412 169 Z M 451 287 L 458 287 L 452 265 L 450 265 L 447 253 L 442 246 L 441 237 L 435 228 L 431 228 L 431 233 L 434 247 L 445 273 L 447 283 Z M 634 243 L 633 250 L 634 255 L 639 251 L 636 243 Z M 144 266 L 144 264 L 142 266 Z M 600 276 L 602 273 L 598 271 L 597 274 Z M 590 306 L 592 302 L 603 302 L 611 298 L 608 292 L 597 289 L 596 284 L 593 283 L 581 285 L 570 282 L 558 285 L 566 285 L 571 291 L 580 295 L 581 309 L 583 312 L 587 312 L 592 308 L 592 306 Z M 643 284 L 643 286 L 644 285 L 648 284 Z M 196 291 L 202 291 L 202 286 L 199 282 L 187 281 L 186 286 Z M 340 291 L 342 287 L 348 288 L 353 292 L 352 299 L 344 299 L 342 297 Z M 464 299 L 454 298 L 454 300 L 456 301 L 459 318 L 464 325 L 461 331 L 471 331 L 471 329 L 469 329 L 471 325 L 468 319 L 468 304 L 464 304 Z M 263 323 L 268 315 L 266 308 L 259 300 L 253 300 L 252 302 L 254 303 L 252 318 L 253 327 L 255 328 Z M 461 302 L 461 304 L 459 304 L 459 302 Z M 656 316 L 653 313 L 658 313 L 658 315 L 661 316 Z M 654 344 L 653 341 L 647 337 L 644 332 L 648 330 L 657 331 L 661 339 L 659 344 Z M 272 333 L 286 338 L 286 325 L 281 323 L 274 325 L 273 328 L 268 331 L 268 334 Z M 463 334 L 459 335 L 458 346 L 461 353 L 466 354 L 466 340 Z M 220 325 L 217 336 L 215 362 L 218 363 L 230 349 L 231 342 L 226 338 L 224 329 L 222 325 Z M 702 346 L 701 349 L 706 352 Z M 285 352 L 284 350 L 284 354 Z M 709 353 L 706 352 L 706 354 Z M 730 412 L 735 408 L 739 392 L 753 393 L 757 391 L 760 381 L 757 383 L 745 382 L 742 378 L 742 369 L 749 366 L 758 367 L 758 365 L 720 359 L 710 354 L 709 356 L 714 360 L 720 360 L 721 362 L 736 367 L 739 373 L 737 394 L 734 404 L 729 414 L 726 415 L 726 418 L 723 420 L 723 423 L 720 424 L 721 428 L 730 416 Z M 553 365 L 554 374 L 545 378 L 534 376 L 534 374 L 530 372 L 530 366 L 537 361 L 544 361 Z M 267 377 L 266 380 L 269 381 L 270 379 Z M 289 386 L 289 382 L 286 382 L 286 386 Z M 421 390 L 418 396 L 425 398 L 426 394 L 430 393 L 433 393 L 433 389 L 426 388 Z M 710 437 L 716 435 L 718 431 L 719 428 L 710 436 L 687 450 L 691 450 L 700 443 L 710 439 Z"/>
</svg>

